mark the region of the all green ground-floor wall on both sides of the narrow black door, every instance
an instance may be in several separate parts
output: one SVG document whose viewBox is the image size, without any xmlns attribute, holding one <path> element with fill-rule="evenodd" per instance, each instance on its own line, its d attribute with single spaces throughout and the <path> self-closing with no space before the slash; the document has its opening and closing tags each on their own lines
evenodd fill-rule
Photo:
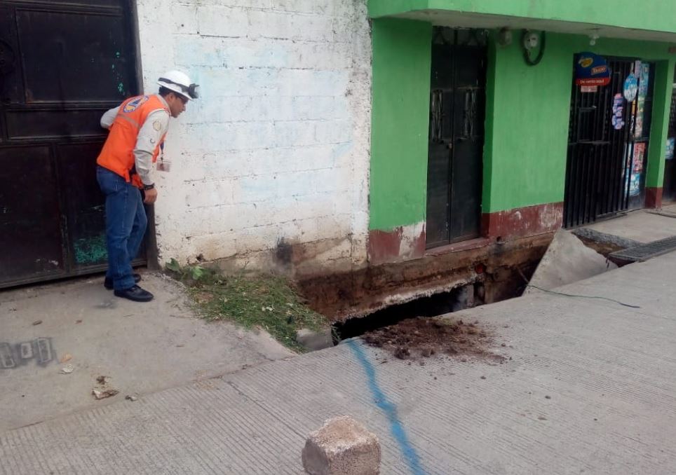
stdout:
<svg viewBox="0 0 676 475">
<path fill-rule="evenodd" d="M 391 230 L 425 219 L 431 25 L 375 19 L 372 35 L 370 229 Z M 530 67 L 516 37 L 511 46 L 489 46 L 482 213 L 563 201 L 573 60 L 581 51 L 656 63 L 646 186 L 661 187 L 669 45 L 602 38 L 590 46 L 588 36 L 548 33 L 543 60 Z"/>
</svg>

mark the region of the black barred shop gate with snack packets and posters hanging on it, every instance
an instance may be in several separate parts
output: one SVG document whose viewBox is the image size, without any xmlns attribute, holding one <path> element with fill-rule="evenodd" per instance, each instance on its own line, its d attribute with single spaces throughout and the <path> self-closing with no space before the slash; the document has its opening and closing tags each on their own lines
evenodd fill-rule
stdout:
<svg viewBox="0 0 676 475">
<path fill-rule="evenodd" d="M 611 82 L 583 92 L 573 83 L 564 198 L 564 226 L 581 226 L 643 206 L 652 109 L 652 64 L 608 60 Z M 632 102 L 629 74 L 639 78 Z M 615 116 L 615 118 L 614 118 Z"/>
</svg>

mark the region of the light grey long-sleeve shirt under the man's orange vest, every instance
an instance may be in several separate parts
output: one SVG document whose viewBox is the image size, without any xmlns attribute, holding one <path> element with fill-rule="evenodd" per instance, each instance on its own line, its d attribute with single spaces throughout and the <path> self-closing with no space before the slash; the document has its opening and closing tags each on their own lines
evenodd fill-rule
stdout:
<svg viewBox="0 0 676 475">
<path fill-rule="evenodd" d="M 169 105 L 164 100 L 164 97 L 160 95 L 158 95 L 158 97 L 168 109 Z M 109 129 L 110 126 L 113 125 L 119 110 L 120 107 L 117 106 L 114 109 L 106 111 L 101 117 L 101 127 Z M 156 109 L 148 114 L 146 121 L 138 132 L 136 146 L 134 147 L 134 159 L 136 163 L 136 172 L 144 185 L 153 184 L 153 179 L 151 177 L 153 152 L 162 137 L 167 133 L 168 128 L 169 113 L 164 109 Z"/>
</svg>

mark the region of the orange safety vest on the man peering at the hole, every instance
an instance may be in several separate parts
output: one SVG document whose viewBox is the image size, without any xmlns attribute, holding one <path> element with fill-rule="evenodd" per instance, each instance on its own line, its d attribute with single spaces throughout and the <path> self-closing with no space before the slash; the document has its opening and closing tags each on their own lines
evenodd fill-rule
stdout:
<svg viewBox="0 0 676 475">
<path fill-rule="evenodd" d="M 110 126 L 110 134 L 96 163 L 119 174 L 128 183 L 143 188 L 140 177 L 135 173 L 134 149 L 138 132 L 143 127 L 148 114 L 157 109 L 163 109 L 170 113 L 168 107 L 157 95 L 130 97 L 123 102 Z M 164 144 L 165 135 L 162 136 L 153 151 L 153 163 L 157 161 L 161 146 Z"/>
</svg>

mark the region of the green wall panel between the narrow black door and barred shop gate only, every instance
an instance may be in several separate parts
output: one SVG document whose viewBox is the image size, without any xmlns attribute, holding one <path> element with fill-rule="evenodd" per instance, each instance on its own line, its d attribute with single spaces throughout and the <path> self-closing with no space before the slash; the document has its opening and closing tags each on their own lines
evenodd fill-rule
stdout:
<svg viewBox="0 0 676 475">
<path fill-rule="evenodd" d="M 563 39 L 547 38 L 534 67 L 491 43 L 483 213 L 563 200 L 572 65 Z"/>
</svg>

